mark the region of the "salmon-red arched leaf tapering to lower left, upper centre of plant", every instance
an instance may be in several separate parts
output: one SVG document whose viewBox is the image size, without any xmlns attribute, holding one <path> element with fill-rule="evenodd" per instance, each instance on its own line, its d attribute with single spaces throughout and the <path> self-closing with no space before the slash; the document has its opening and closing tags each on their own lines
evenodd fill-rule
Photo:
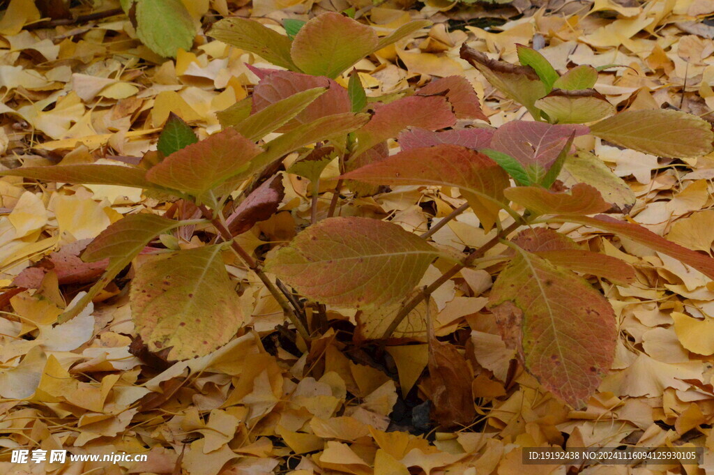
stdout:
<svg viewBox="0 0 714 475">
<path fill-rule="evenodd" d="M 441 96 L 408 96 L 378 107 L 372 119 L 356 132 L 357 156 L 396 136 L 407 127 L 437 130 L 456 124 L 456 116 Z"/>
</svg>

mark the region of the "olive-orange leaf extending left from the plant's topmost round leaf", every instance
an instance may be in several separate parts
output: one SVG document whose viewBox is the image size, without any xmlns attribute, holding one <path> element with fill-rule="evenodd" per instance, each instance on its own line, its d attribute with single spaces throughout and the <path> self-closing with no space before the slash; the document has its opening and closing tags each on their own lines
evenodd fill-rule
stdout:
<svg viewBox="0 0 714 475">
<path fill-rule="evenodd" d="M 208 36 L 255 53 L 276 66 L 300 71 L 290 56 L 292 41 L 257 21 L 236 16 L 224 18 L 213 25 Z"/>
</svg>

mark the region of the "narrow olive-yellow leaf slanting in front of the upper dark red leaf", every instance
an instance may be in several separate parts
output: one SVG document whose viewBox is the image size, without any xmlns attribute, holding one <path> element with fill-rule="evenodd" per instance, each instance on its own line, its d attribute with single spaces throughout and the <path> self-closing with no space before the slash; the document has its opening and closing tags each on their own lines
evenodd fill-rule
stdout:
<svg viewBox="0 0 714 475">
<path fill-rule="evenodd" d="M 326 91 L 327 88 L 316 87 L 288 96 L 251 114 L 234 128 L 248 140 L 262 139 L 300 114 Z"/>
</svg>

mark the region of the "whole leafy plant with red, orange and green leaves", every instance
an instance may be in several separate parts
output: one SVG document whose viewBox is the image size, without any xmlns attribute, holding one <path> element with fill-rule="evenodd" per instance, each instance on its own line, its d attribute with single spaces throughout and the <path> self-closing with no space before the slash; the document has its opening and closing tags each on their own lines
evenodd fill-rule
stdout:
<svg viewBox="0 0 714 475">
<path fill-rule="evenodd" d="M 197 141 L 191 128 L 172 116 L 159 138 L 159 158 L 149 161 L 147 156 L 143 166 L 58 165 L 2 172 L 141 187 L 170 201 L 191 201 L 203 214 L 203 219 L 191 221 L 131 214 L 109 226 L 82 255 L 85 261 L 109 259 L 106 273 L 61 320 L 78 314 L 156 236 L 203 224 L 218 236 L 216 244 L 167 249 L 135 261 L 132 314 L 152 351 L 170 348 L 171 359 L 206 354 L 240 328 L 237 294 L 222 259 L 229 251 L 255 271 L 303 339 L 311 338 L 306 304 L 314 304 L 323 318 L 325 305 L 358 309 L 358 318 L 378 320 L 380 333 L 372 336 L 388 339 L 405 319 L 429 313 L 430 295 L 441 284 L 478 264 L 498 244 L 506 244 L 509 250 L 489 298 L 503 338 L 540 384 L 568 404 L 583 406 L 610 369 L 617 326 L 607 299 L 578 274 L 627 284 L 635 279 L 635 271 L 624 261 L 582 249 L 567 236 L 534 225 L 591 226 L 673 256 L 714 278 L 714 260 L 708 256 L 603 214 L 628 211 L 634 196 L 598 157 L 573 147 L 575 136 L 593 134 L 660 156 L 700 156 L 712 151 L 710 126 L 676 111 L 615 114 L 591 89 L 598 71 L 579 66 L 559 76 L 543 56 L 525 46 L 518 49 L 520 66 L 468 48 L 461 52 L 535 119 L 498 129 L 451 129 L 457 119 L 488 121 L 471 85 L 460 77 L 383 98 L 367 98 L 356 74 L 348 88 L 334 81 L 363 56 L 425 25 L 408 24 L 379 39 L 368 26 L 328 13 L 292 24 L 291 39 L 254 21 L 224 19 L 211 36 L 288 71 L 253 68 L 260 82 L 252 96 L 219 114 L 223 131 Z M 582 125 L 591 121 L 596 122 Z M 281 135 L 261 144 L 273 131 Z M 688 137 L 685 144 L 681 136 Z M 390 156 L 386 141 L 395 138 L 401 151 Z M 300 158 L 287 172 L 311 181 L 311 223 L 261 262 L 234 237 L 277 211 L 283 189 L 276 174 L 285 157 L 295 152 Z M 318 181 L 333 159 L 342 174 L 331 206 L 320 216 Z M 517 186 L 510 186 L 511 179 Z M 560 191 L 561 182 L 554 187 L 558 179 L 570 189 Z M 461 190 L 466 204 L 423 236 L 389 221 L 333 216 L 338 201 L 382 185 L 450 186 Z M 226 214 L 231 199 L 237 207 Z M 484 233 L 492 232 L 486 244 L 454 256 L 428 241 L 467 208 L 478 216 Z M 435 259 L 451 262 L 451 269 L 415 289 Z"/>
</svg>

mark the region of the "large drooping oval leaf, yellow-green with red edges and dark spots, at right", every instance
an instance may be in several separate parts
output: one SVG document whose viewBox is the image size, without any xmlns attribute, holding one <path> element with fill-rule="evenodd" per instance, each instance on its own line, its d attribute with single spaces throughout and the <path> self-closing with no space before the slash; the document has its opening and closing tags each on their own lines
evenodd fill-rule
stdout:
<svg viewBox="0 0 714 475">
<path fill-rule="evenodd" d="M 528 372 L 570 406 L 585 406 L 615 356 L 607 299 L 573 272 L 519 251 L 493 284 L 489 306 Z"/>
</svg>

